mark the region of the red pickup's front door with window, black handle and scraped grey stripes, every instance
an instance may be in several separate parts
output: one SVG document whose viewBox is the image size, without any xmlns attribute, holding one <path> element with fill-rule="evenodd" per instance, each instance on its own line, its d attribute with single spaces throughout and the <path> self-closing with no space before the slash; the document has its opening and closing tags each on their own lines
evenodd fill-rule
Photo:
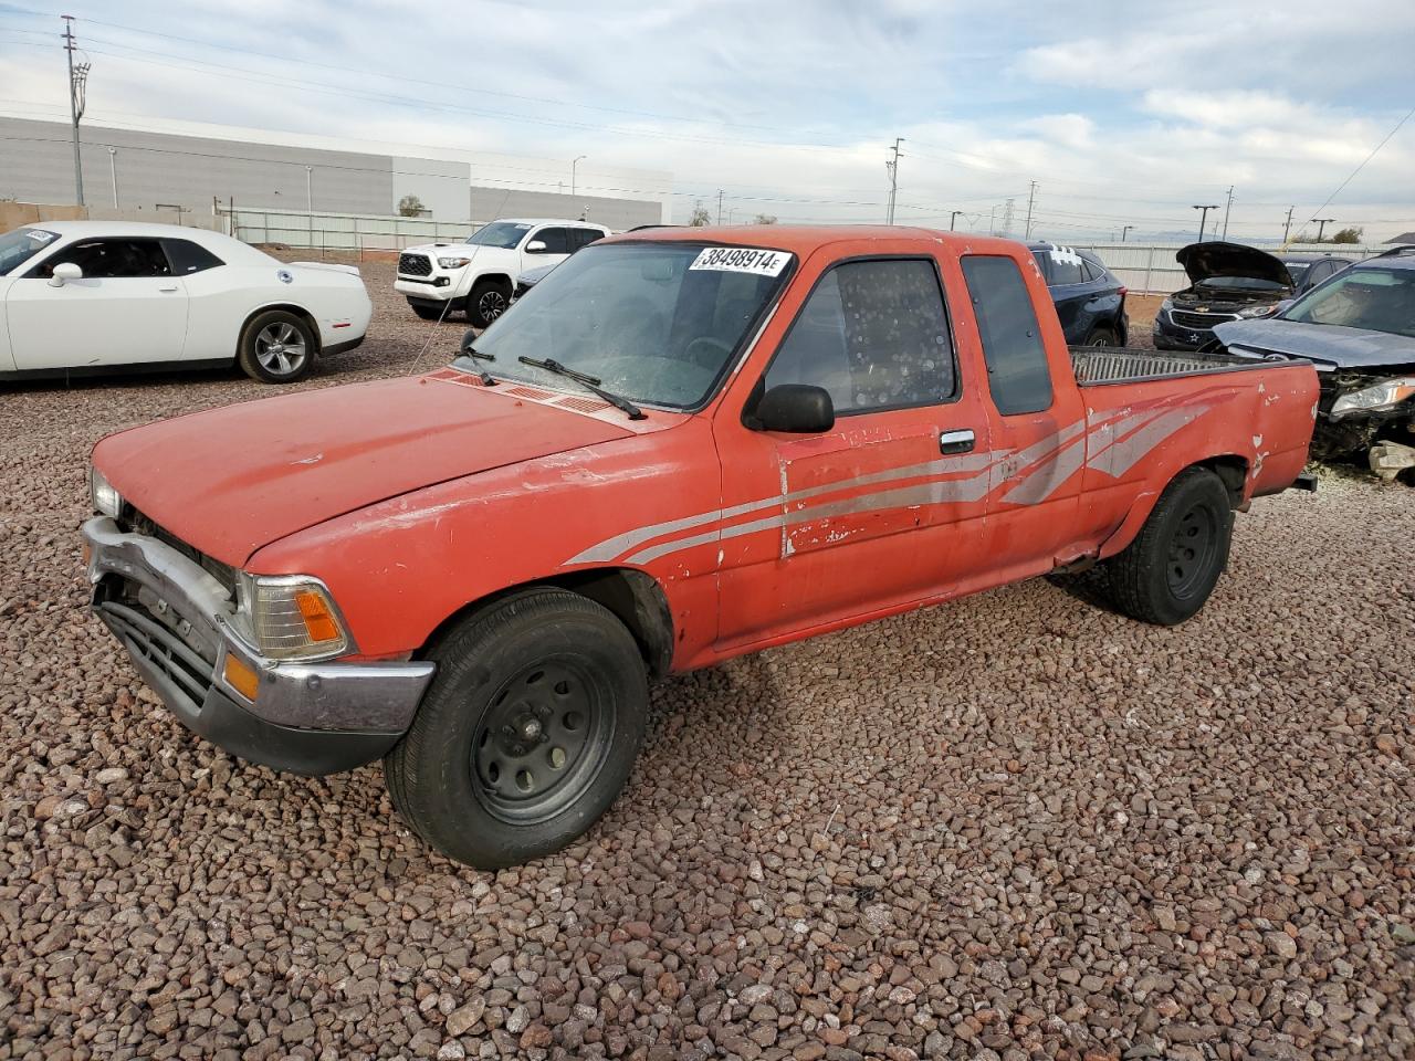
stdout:
<svg viewBox="0 0 1415 1061">
<path fill-rule="evenodd" d="M 715 422 L 723 648 L 937 596 L 976 563 L 988 423 L 932 256 L 836 259 L 757 372 Z M 828 390 L 833 429 L 753 430 L 781 383 Z"/>
</svg>

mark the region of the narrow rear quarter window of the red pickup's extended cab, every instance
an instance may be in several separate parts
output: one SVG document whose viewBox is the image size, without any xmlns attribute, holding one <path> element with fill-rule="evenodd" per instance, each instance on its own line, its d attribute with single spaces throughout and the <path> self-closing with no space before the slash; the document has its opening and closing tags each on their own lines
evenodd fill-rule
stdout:
<svg viewBox="0 0 1415 1061">
<path fill-rule="evenodd" d="M 962 269 L 998 412 L 1020 416 L 1050 409 L 1051 368 L 1017 263 L 995 255 L 965 255 Z"/>
</svg>

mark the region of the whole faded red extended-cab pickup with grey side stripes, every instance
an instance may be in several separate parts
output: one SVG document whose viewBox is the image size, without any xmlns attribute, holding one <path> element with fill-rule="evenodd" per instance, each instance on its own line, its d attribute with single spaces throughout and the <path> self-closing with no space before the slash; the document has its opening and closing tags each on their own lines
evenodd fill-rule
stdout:
<svg viewBox="0 0 1415 1061">
<path fill-rule="evenodd" d="M 1019 243 L 641 231 L 447 368 L 102 440 L 88 576 L 190 729 L 383 757 L 427 842 L 505 866 L 613 802 L 652 678 L 1098 562 L 1182 622 L 1316 402 L 1306 362 L 1068 349 Z"/>
</svg>

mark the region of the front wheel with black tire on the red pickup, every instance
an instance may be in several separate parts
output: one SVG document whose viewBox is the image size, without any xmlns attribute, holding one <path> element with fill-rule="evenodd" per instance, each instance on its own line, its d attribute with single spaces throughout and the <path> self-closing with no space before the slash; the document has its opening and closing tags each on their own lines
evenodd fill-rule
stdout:
<svg viewBox="0 0 1415 1061">
<path fill-rule="evenodd" d="M 624 624 L 576 593 L 532 590 L 467 617 L 429 658 L 437 676 L 383 760 L 413 830 L 491 870 L 594 825 L 628 779 L 648 713 Z"/>
</svg>

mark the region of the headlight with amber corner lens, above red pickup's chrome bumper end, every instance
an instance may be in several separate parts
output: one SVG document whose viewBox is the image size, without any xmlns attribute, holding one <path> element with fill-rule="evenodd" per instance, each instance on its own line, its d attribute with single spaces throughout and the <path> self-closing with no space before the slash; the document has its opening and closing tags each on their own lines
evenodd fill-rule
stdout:
<svg viewBox="0 0 1415 1061">
<path fill-rule="evenodd" d="M 308 574 L 245 574 L 239 608 L 260 655 L 269 659 L 330 659 L 352 642 L 328 587 Z"/>
</svg>

